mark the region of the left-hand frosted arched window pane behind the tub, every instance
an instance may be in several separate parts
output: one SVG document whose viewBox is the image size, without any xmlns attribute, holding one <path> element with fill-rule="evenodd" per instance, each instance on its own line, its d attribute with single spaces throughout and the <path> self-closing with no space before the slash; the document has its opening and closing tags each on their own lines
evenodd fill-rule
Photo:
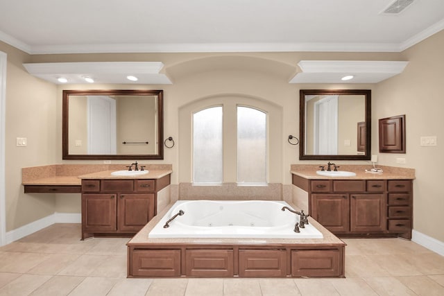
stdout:
<svg viewBox="0 0 444 296">
<path fill-rule="evenodd" d="M 193 114 L 193 182 L 222 183 L 222 107 Z"/>
</svg>

